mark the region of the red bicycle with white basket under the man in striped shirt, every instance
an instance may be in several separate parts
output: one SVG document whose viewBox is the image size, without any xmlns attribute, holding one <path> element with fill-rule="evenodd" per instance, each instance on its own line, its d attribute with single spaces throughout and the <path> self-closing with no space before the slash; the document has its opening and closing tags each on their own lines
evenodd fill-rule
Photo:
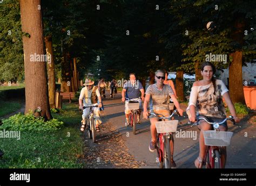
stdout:
<svg viewBox="0 0 256 186">
<path fill-rule="evenodd" d="M 161 121 L 156 122 L 157 128 L 157 158 L 160 168 L 172 168 L 171 158 L 172 158 L 172 150 L 171 150 L 171 142 L 173 144 L 173 134 L 172 132 L 177 131 L 177 126 L 179 120 L 167 120 L 173 117 L 174 113 L 179 116 L 177 110 L 174 110 L 169 117 L 159 117 L 155 113 L 150 113 L 150 115 L 156 116 Z M 164 119 L 164 120 L 163 120 Z"/>
</svg>

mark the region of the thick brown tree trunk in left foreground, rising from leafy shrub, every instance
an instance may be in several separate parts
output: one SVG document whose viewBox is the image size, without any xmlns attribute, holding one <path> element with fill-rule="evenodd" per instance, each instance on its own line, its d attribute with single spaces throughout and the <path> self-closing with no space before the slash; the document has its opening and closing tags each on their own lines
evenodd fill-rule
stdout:
<svg viewBox="0 0 256 186">
<path fill-rule="evenodd" d="M 42 12 L 41 9 L 38 10 L 38 7 L 41 6 L 41 0 L 20 0 L 19 3 L 21 6 L 22 32 L 30 35 L 30 38 L 23 36 L 25 113 L 32 110 L 35 112 L 35 116 L 51 119 L 46 81 L 46 62 L 42 59 L 30 59 L 30 55 L 44 55 Z"/>
</svg>

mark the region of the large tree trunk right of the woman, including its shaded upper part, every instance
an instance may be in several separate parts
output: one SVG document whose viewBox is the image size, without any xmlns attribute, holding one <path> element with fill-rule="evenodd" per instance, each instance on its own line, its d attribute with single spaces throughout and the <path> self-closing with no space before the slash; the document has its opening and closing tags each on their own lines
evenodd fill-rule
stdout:
<svg viewBox="0 0 256 186">
<path fill-rule="evenodd" d="M 237 14 L 234 18 L 234 30 L 232 39 L 240 45 L 244 42 L 245 20 L 244 15 Z M 229 89 L 230 97 L 233 103 L 245 104 L 244 87 L 242 85 L 242 52 L 235 51 L 231 54 L 233 61 L 229 69 Z"/>
</svg>

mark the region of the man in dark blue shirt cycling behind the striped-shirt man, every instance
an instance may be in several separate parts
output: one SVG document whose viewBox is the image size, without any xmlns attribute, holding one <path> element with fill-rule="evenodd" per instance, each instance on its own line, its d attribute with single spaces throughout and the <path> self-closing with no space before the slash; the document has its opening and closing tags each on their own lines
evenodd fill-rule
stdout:
<svg viewBox="0 0 256 186">
<path fill-rule="evenodd" d="M 137 123 L 141 123 L 140 114 L 142 113 L 142 101 L 144 101 L 144 89 L 142 83 L 136 81 L 136 76 L 134 73 L 129 75 L 130 80 L 124 83 L 122 90 L 122 102 L 125 102 L 125 126 L 129 125 L 129 116 L 131 110 L 128 109 L 129 101 L 125 101 L 125 98 L 129 98 L 130 101 L 139 102 L 139 113 L 137 115 Z M 142 94 L 142 98 L 139 98 L 139 94 Z"/>
</svg>

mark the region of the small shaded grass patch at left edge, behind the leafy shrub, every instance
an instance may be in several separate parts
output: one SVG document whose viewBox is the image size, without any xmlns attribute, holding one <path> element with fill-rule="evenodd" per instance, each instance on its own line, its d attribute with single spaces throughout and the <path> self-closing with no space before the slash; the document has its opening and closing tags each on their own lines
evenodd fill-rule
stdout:
<svg viewBox="0 0 256 186">
<path fill-rule="evenodd" d="M 9 113 L 15 112 L 21 109 L 21 101 L 1 101 L 0 100 L 0 117 L 8 115 Z"/>
</svg>

